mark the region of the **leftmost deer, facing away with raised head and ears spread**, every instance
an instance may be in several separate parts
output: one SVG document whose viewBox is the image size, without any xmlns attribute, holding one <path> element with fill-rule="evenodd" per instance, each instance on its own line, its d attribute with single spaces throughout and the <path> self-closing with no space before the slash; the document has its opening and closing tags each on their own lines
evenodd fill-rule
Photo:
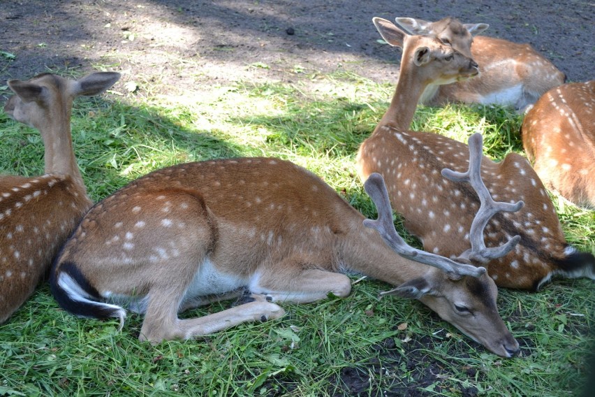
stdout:
<svg viewBox="0 0 595 397">
<path fill-rule="evenodd" d="M 41 133 L 45 175 L 0 176 L 0 323 L 33 293 L 91 207 L 72 147 L 73 99 L 101 94 L 118 78 L 118 73 L 92 73 L 67 80 L 45 73 L 8 81 L 15 95 L 4 111 Z"/>
</svg>

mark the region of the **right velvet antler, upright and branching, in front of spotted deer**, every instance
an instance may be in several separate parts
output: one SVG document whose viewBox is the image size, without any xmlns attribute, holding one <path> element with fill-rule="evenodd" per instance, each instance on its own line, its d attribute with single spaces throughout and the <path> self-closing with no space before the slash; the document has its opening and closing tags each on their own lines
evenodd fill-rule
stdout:
<svg viewBox="0 0 595 397">
<path fill-rule="evenodd" d="M 469 231 L 471 249 L 463 252 L 457 259 L 467 259 L 485 264 L 491 259 L 504 257 L 520 241 L 520 236 L 514 236 L 500 247 L 487 248 L 483 240 L 483 230 L 487 226 L 487 222 L 499 211 L 516 212 L 520 210 L 524 203 L 522 201 L 517 201 L 514 204 L 494 201 L 481 179 L 482 157 L 483 136 L 480 133 L 474 133 L 469 138 L 469 169 L 464 173 L 460 173 L 444 168 L 442 175 L 454 182 L 469 182 L 479 196 L 480 207 L 471 223 L 471 231 Z"/>
</svg>

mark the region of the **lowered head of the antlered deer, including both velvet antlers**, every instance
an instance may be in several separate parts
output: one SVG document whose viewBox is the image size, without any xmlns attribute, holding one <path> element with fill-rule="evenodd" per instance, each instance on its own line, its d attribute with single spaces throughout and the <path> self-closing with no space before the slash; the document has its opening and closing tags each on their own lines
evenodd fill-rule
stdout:
<svg viewBox="0 0 595 397">
<path fill-rule="evenodd" d="M 448 168 L 442 174 L 449 180 L 468 182 L 480 197 L 480 208 L 471 225 L 471 248 L 462 252 L 460 256 L 453 257 L 452 261 L 429 252 L 414 249 L 407 245 L 395 231 L 392 224 L 392 209 L 382 176 L 379 173 L 369 175 L 365 182 L 365 189 L 378 208 L 379 219 L 364 221 L 365 226 L 376 229 L 389 247 L 402 257 L 411 258 L 420 263 L 434 266 L 443 270 L 448 276 L 434 278 L 433 283 L 428 282 L 428 277 L 418 277 L 409 280 L 390 291 L 381 292 L 381 296 L 396 294 L 402 297 L 418 298 L 429 308 L 439 313 L 446 321 L 455 324 L 466 335 L 487 346 L 492 352 L 504 349 L 507 355 L 515 354 L 518 349 L 517 342 L 506 330 L 499 326 L 501 338 L 485 337 L 485 324 L 497 316 L 495 300 L 497 289 L 492 280 L 486 276 L 485 268 L 470 266 L 471 260 L 485 262 L 490 259 L 504 257 L 513 250 L 520 240 L 520 236 L 510 238 L 499 247 L 486 247 L 483 241 L 483 229 L 488 220 L 497 212 L 516 212 L 523 203 L 501 203 L 493 200 L 490 192 L 483 184 L 480 175 L 482 159 L 482 136 L 476 133 L 469 138 L 469 170 L 460 173 Z M 463 280 L 462 280 L 463 279 Z M 439 287 L 436 287 L 439 285 Z M 462 291 L 472 291 L 470 300 Z M 479 292 L 481 291 L 481 292 Z M 494 324 L 498 324 L 495 322 Z"/>
</svg>

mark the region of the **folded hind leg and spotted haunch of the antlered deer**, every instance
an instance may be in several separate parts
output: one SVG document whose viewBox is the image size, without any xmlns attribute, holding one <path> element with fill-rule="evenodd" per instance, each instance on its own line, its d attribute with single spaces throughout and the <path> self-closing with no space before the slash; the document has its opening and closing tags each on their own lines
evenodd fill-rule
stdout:
<svg viewBox="0 0 595 397">
<path fill-rule="evenodd" d="M 188 339 L 242 322 L 284 315 L 284 310 L 278 305 L 260 301 L 205 317 L 179 319 L 177 313 L 180 309 L 233 298 L 241 293 L 241 290 L 235 289 L 223 294 L 211 292 L 213 295 L 193 296 L 201 292 L 193 289 L 203 266 L 214 266 L 208 257 L 216 244 L 216 222 L 200 193 L 195 191 L 139 192 L 133 198 L 147 204 L 128 210 L 134 216 L 128 215 L 126 222 L 118 224 L 119 218 L 102 219 L 106 224 L 118 224 L 118 241 L 125 242 L 122 246 L 110 246 L 110 255 L 113 256 L 110 260 L 118 261 L 125 254 L 128 264 L 122 272 L 112 271 L 112 274 L 105 275 L 104 278 L 112 277 L 111 283 L 105 282 L 98 289 L 110 291 L 118 282 L 126 280 L 126 292 L 147 291 L 143 299 L 146 307 L 140 340 L 156 343 L 176 338 Z M 116 207 L 117 203 L 113 205 L 107 201 L 103 205 Z M 112 211 L 114 214 L 120 212 Z M 108 236 L 114 233 L 112 231 Z"/>
</svg>

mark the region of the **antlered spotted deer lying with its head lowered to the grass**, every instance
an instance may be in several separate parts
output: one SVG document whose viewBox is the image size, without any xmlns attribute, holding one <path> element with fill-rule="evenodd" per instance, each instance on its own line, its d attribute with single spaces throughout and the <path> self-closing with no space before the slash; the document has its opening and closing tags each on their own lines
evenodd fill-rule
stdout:
<svg viewBox="0 0 595 397">
<path fill-rule="evenodd" d="M 379 178 L 369 184 L 382 184 Z M 377 205 L 388 213 L 384 234 L 394 237 L 388 199 Z M 277 301 L 347 296 L 351 282 L 339 272 L 351 271 L 398 285 L 391 293 L 420 299 L 495 354 L 517 352 L 485 269 L 411 247 L 395 253 L 364 219 L 288 161 L 180 164 L 131 182 L 89 210 L 52 266 L 52 294 L 75 315 L 119 317 L 121 326 L 127 305 L 145 313 L 140 340 L 160 342 L 281 317 Z M 242 305 L 177 317 L 243 291 L 251 295 Z"/>
</svg>

